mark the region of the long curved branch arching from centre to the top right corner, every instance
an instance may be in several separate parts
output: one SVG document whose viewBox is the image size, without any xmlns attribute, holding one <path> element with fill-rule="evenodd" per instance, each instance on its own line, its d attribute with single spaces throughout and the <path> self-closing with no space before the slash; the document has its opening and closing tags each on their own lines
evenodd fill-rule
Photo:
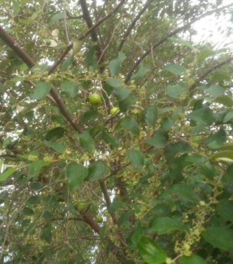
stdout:
<svg viewBox="0 0 233 264">
<path fill-rule="evenodd" d="M 179 33 L 180 31 L 188 28 L 191 24 L 193 24 L 194 22 L 200 20 L 201 18 L 205 17 L 205 16 L 209 16 L 209 15 L 212 15 L 214 14 L 215 12 L 217 11 L 220 11 L 222 9 L 225 9 L 227 7 L 230 7 L 232 6 L 233 4 L 229 4 L 229 5 L 226 5 L 226 6 L 223 6 L 223 7 L 220 7 L 220 8 L 217 8 L 215 10 L 211 10 L 211 11 L 208 11 L 206 13 L 204 13 L 203 15 L 193 19 L 192 21 L 186 23 L 185 25 L 183 25 L 182 27 L 179 27 L 173 31 L 171 31 L 170 33 L 168 33 L 165 37 L 163 37 L 162 39 L 158 40 L 157 42 L 154 43 L 154 45 L 148 49 L 144 54 L 142 54 L 142 56 L 134 63 L 134 65 L 132 66 L 132 68 L 130 69 L 129 73 L 126 75 L 126 78 L 125 78 L 125 83 L 129 82 L 131 76 L 133 75 L 133 72 L 134 70 L 136 69 L 136 67 L 147 57 L 147 55 L 150 54 L 151 52 L 151 49 L 155 49 L 156 47 L 158 47 L 159 45 L 161 45 L 162 43 L 164 43 L 169 37 Z"/>
</svg>

